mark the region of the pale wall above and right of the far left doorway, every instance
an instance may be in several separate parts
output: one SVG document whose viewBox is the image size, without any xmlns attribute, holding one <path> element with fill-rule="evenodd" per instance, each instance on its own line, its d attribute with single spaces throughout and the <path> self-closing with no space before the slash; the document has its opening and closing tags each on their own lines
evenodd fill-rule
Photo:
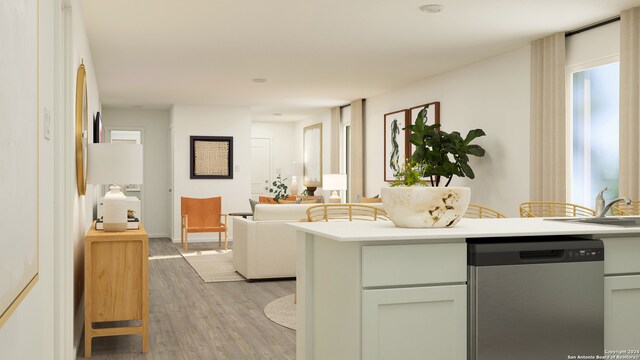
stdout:
<svg viewBox="0 0 640 360">
<path fill-rule="evenodd" d="M 104 107 L 105 129 L 142 131 L 144 152 L 142 220 L 150 237 L 169 237 L 169 110 Z"/>
</svg>

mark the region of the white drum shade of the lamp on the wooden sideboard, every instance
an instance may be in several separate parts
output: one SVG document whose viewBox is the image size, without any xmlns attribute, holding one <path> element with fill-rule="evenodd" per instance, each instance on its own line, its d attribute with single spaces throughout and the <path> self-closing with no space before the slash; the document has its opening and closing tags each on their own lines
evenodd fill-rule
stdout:
<svg viewBox="0 0 640 360">
<path fill-rule="evenodd" d="M 89 184 L 142 184 L 142 145 L 89 144 Z"/>
</svg>

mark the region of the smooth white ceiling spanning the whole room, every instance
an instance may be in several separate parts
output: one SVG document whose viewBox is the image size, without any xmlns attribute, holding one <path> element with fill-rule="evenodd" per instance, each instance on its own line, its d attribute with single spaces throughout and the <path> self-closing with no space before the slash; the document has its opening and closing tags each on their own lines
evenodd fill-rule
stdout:
<svg viewBox="0 0 640 360">
<path fill-rule="evenodd" d="M 430 3 L 444 8 L 419 10 Z M 83 0 L 82 12 L 103 105 L 250 106 L 254 120 L 294 121 L 637 5 L 640 0 Z"/>
</svg>

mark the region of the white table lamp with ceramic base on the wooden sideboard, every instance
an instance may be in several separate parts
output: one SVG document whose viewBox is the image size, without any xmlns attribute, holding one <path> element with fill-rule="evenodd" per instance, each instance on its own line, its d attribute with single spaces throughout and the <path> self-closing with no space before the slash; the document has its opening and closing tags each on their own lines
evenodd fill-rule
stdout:
<svg viewBox="0 0 640 360">
<path fill-rule="evenodd" d="M 87 153 L 87 182 L 111 184 L 104 195 L 104 231 L 125 231 L 128 202 L 118 184 L 142 184 L 142 145 L 89 144 Z"/>
</svg>

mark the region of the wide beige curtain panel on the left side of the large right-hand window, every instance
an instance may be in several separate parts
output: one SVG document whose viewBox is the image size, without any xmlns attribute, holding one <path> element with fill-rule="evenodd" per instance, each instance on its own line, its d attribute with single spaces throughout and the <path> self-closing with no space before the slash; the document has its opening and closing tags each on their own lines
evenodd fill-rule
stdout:
<svg viewBox="0 0 640 360">
<path fill-rule="evenodd" d="M 531 191 L 533 201 L 567 201 L 565 37 L 531 43 Z"/>
</svg>

